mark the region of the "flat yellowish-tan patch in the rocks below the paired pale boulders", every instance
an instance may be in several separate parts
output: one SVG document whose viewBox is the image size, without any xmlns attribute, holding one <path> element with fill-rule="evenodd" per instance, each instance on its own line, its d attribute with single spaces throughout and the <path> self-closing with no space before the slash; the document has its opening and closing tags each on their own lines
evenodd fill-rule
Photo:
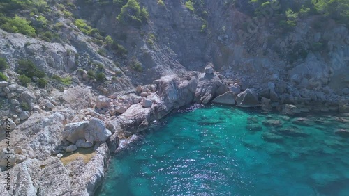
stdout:
<svg viewBox="0 0 349 196">
<path fill-rule="evenodd" d="M 96 152 L 94 152 L 93 147 L 79 148 L 75 152 L 66 152 L 62 156 L 61 162 L 63 163 L 63 165 L 67 165 L 68 163 L 77 160 L 77 158 L 82 158 L 82 161 L 84 161 L 84 163 L 86 164 L 91 161 L 92 157 L 94 157 L 95 154 Z"/>
</svg>

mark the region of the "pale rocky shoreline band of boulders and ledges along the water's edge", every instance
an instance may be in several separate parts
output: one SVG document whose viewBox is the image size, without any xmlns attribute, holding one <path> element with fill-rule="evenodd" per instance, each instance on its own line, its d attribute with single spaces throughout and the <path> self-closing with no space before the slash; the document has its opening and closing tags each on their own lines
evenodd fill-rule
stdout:
<svg viewBox="0 0 349 196">
<path fill-rule="evenodd" d="M 64 95 L 51 92 L 52 97 L 40 100 L 42 98 L 29 91 L 17 92 L 12 85 L 1 82 L 2 92 L 8 92 L 6 96 L 13 93 L 14 98 L 27 101 L 29 108 L 19 117 L 12 115 L 11 134 L 15 136 L 13 156 L 10 157 L 14 165 L 11 169 L 13 189 L 6 190 L 2 182 L 6 172 L 1 172 L 0 190 L 4 195 L 94 195 L 120 138 L 147 130 L 156 120 L 187 104 L 212 101 L 239 107 L 260 106 L 265 111 L 276 108 L 285 115 L 314 111 L 317 107 L 316 111 L 349 112 L 345 99 L 333 103 L 334 106 L 326 106 L 326 109 L 323 104 L 307 107 L 306 102 L 288 103 L 277 93 L 281 88 L 279 83 L 268 83 L 265 93 L 260 93 L 260 90 L 246 88 L 214 72 L 211 64 L 204 73 L 163 76 L 151 85 L 139 85 L 131 94 L 100 95 L 96 100 L 89 99 L 94 95 L 89 95 L 91 92 L 82 87 L 71 88 Z M 70 93 L 75 93 L 79 99 L 70 100 Z M 75 105 L 91 107 L 72 110 Z M 22 123 L 16 123 L 21 120 Z M 83 152 L 91 148 L 94 150 Z M 3 150 L 0 156 L 5 153 Z M 76 160 L 67 159 L 76 154 L 82 156 Z M 0 166 L 3 171 L 6 163 L 1 162 Z"/>
</svg>

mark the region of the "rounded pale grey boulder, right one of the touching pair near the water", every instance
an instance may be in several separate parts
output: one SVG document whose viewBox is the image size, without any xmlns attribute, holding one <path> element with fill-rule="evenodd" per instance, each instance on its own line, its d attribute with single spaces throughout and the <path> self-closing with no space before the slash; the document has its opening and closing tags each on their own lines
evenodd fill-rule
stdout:
<svg viewBox="0 0 349 196">
<path fill-rule="evenodd" d="M 89 142 L 105 142 L 107 138 L 112 136 L 107 128 L 105 128 L 105 123 L 103 120 L 98 118 L 92 118 L 87 125 L 87 130 L 85 131 L 85 139 Z"/>
</svg>

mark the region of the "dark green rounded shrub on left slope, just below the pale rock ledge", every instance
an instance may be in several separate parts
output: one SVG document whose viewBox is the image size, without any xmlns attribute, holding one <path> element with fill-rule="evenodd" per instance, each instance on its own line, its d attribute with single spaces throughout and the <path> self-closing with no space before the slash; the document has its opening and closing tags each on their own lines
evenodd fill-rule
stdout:
<svg viewBox="0 0 349 196">
<path fill-rule="evenodd" d="M 45 72 L 38 70 L 38 68 L 34 65 L 31 60 L 19 60 L 18 67 L 15 70 L 17 74 L 25 74 L 29 78 L 34 76 L 38 78 L 43 78 L 45 76 Z"/>
</svg>

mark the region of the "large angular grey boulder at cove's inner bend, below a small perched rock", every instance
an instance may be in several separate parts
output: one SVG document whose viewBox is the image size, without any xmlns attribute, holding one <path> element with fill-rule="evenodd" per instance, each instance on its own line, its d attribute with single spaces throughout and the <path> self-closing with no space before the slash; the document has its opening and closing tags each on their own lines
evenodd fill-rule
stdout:
<svg viewBox="0 0 349 196">
<path fill-rule="evenodd" d="M 194 101 L 198 104 L 207 104 L 214 97 L 223 95 L 227 91 L 228 87 L 216 74 L 200 74 Z"/>
</svg>

